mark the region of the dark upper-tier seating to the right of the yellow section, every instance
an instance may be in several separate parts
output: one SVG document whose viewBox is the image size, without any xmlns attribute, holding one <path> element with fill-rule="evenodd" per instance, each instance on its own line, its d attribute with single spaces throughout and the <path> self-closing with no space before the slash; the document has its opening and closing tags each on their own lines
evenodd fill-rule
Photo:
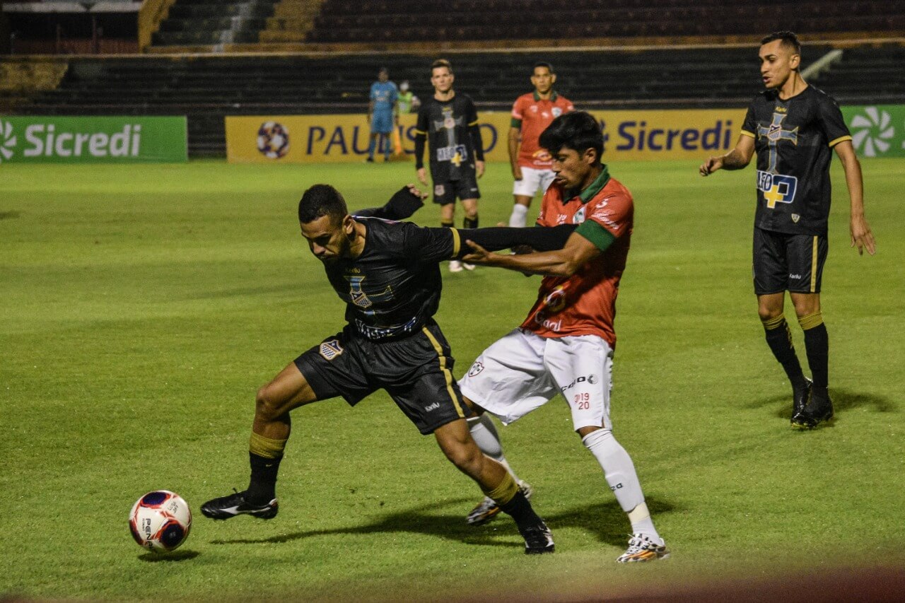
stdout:
<svg viewBox="0 0 905 603">
<path fill-rule="evenodd" d="M 779 26 L 799 33 L 905 30 L 905 5 L 891 0 L 327 0 L 313 43 L 447 42 L 659 36 L 731 36 Z"/>
</svg>

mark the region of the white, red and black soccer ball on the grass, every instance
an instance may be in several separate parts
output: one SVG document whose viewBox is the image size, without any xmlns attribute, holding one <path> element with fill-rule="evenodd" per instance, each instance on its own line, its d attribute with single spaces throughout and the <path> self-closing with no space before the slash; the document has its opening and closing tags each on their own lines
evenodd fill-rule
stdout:
<svg viewBox="0 0 905 603">
<path fill-rule="evenodd" d="M 192 512 L 179 494 L 155 490 L 142 496 L 129 513 L 129 531 L 138 546 L 152 552 L 175 550 L 188 538 Z"/>
</svg>

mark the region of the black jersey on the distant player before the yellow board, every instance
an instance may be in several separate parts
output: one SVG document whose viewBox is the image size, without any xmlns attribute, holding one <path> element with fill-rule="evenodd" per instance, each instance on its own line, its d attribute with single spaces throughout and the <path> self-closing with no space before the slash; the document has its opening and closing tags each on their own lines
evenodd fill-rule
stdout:
<svg viewBox="0 0 905 603">
<path fill-rule="evenodd" d="M 418 110 L 415 134 L 429 142 L 431 176 L 434 182 L 448 182 L 474 177 L 474 160 L 482 159 L 476 149 L 470 128 L 478 125 L 478 111 L 467 94 L 457 92 L 452 101 L 431 98 Z M 415 157 L 417 168 L 422 158 Z"/>
</svg>

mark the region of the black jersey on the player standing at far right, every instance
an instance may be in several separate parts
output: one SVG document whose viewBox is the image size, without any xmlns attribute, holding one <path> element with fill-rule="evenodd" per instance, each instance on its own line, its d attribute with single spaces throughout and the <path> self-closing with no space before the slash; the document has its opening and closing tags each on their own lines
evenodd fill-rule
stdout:
<svg viewBox="0 0 905 603">
<path fill-rule="evenodd" d="M 764 91 L 748 107 L 741 133 L 755 139 L 755 225 L 792 235 L 826 235 L 833 147 L 851 140 L 842 111 L 808 86 L 786 101 Z"/>
</svg>

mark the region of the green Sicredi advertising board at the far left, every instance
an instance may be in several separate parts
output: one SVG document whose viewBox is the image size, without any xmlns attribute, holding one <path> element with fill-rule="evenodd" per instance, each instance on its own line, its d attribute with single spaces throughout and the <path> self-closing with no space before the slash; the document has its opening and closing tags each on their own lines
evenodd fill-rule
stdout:
<svg viewBox="0 0 905 603">
<path fill-rule="evenodd" d="M 0 116 L 0 164 L 187 160 L 185 116 Z"/>
</svg>

